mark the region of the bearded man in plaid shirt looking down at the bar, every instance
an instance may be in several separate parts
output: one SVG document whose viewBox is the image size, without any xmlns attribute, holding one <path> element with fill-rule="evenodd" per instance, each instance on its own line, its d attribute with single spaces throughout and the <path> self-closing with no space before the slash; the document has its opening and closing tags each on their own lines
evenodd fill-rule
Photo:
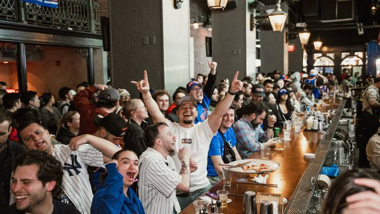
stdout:
<svg viewBox="0 0 380 214">
<path fill-rule="evenodd" d="M 269 128 L 264 132 L 259 125 L 267 115 L 265 105 L 259 101 L 252 101 L 242 109 L 243 117 L 234 124 L 233 128 L 237 141 L 236 149 L 242 159 L 247 159 L 253 152 L 276 145 L 273 138 L 269 139 L 273 135 L 276 118 L 270 117 Z"/>
</svg>

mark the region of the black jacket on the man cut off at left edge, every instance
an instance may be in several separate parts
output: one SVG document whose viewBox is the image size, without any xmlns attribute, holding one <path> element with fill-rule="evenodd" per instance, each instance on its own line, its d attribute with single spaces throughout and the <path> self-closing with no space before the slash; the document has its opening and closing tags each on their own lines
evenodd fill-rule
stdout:
<svg viewBox="0 0 380 214">
<path fill-rule="evenodd" d="M 26 151 L 19 142 L 8 140 L 6 144 L 7 148 L 2 151 L 5 152 L 5 156 L 0 160 L 0 213 L 7 213 L 3 212 L 3 209 L 9 206 L 11 174 L 15 160 L 19 154 Z"/>
</svg>

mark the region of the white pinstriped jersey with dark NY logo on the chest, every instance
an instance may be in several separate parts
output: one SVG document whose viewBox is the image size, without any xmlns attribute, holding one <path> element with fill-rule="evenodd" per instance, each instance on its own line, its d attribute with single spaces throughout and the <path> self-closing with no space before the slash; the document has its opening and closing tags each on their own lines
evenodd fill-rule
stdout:
<svg viewBox="0 0 380 214">
<path fill-rule="evenodd" d="M 67 145 L 54 145 L 52 156 L 63 166 L 63 192 L 81 213 L 90 213 L 93 194 L 87 166 L 104 167 L 103 154 L 89 144 L 75 151 Z"/>
</svg>

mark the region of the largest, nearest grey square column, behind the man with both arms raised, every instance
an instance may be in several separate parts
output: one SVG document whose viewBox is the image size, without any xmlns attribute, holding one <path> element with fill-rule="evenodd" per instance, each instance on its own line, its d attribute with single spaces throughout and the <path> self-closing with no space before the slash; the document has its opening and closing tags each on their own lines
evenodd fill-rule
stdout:
<svg viewBox="0 0 380 214">
<path fill-rule="evenodd" d="M 147 70 L 150 88 L 173 92 L 190 80 L 189 1 L 180 9 L 168 0 L 112 0 L 112 84 L 138 97 L 131 80 Z"/>
</svg>

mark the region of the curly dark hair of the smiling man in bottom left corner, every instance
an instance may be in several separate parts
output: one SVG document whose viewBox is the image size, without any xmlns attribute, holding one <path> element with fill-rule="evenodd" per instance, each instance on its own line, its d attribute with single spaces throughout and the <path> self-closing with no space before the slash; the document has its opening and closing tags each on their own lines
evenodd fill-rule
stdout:
<svg viewBox="0 0 380 214">
<path fill-rule="evenodd" d="M 15 161 L 13 172 L 16 171 L 18 166 L 29 166 L 35 164 L 39 167 L 37 172 L 37 178 L 45 186 L 47 182 L 55 181 L 55 187 L 52 191 L 53 196 L 58 196 L 62 192 L 62 178 L 63 178 L 63 168 L 61 162 L 55 159 L 53 156 L 37 151 L 30 150 L 23 154 L 20 154 Z"/>
</svg>

